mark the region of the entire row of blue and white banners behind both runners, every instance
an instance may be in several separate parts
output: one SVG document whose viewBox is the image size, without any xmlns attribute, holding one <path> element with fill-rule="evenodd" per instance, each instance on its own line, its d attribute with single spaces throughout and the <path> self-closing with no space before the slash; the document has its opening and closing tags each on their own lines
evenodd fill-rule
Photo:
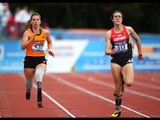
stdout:
<svg viewBox="0 0 160 120">
<path fill-rule="evenodd" d="M 46 55 L 47 73 L 103 72 L 110 71 L 110 57 L 104 56 L 104 40 L 54 40 L 55 57 Z M 134 69 L 137 71 L 160 71 L 160 44 L 143 44 L 142 61 L 133 50 Z M 0 41 L 0 73 L 23 72 L 25 50 L 21 41 Z"/>
</svg>

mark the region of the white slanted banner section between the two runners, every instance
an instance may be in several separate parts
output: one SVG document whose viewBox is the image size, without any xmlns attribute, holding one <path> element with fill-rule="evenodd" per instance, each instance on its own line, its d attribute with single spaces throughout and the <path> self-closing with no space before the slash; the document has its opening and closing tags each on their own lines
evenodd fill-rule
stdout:
<svg viewBox="0 0 160 120">
<path fill-rule="evenodd" d="M 87 40 L 57 40 L 53 42 L 55 57 L 49 55 L 47 72 L 48 73 L 66 73 L 71 72 L 77 59 L 88 44 Z"/>
</svg>

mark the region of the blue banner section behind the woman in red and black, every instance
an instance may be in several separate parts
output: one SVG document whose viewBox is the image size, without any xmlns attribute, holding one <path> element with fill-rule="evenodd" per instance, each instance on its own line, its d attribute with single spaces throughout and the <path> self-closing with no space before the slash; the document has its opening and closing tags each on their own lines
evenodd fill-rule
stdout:
<svg viewBox="0 0 160 120">
<path fill-rule="evenodd" d="M 74 66 L 77 72 L 110 71 L 110 57 L 104 56 L 105 41 L 90 41 Z M 160 71 L 160 44 L 143 44 L 144 59 L 137 58 L 133 50 L 134 69 L 137 71 Z"/>
</svg>

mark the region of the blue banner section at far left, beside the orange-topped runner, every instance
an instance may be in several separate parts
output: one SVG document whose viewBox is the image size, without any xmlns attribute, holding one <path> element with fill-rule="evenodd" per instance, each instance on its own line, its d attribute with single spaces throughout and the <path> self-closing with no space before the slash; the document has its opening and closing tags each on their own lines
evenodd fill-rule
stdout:
<svg viewBox="0 0 160 120">
<path fill-rule="evenodd" d="M 22 72 L 24 55 L 21 41 L 0 41 L 0 73 Z"/>
</svg>

